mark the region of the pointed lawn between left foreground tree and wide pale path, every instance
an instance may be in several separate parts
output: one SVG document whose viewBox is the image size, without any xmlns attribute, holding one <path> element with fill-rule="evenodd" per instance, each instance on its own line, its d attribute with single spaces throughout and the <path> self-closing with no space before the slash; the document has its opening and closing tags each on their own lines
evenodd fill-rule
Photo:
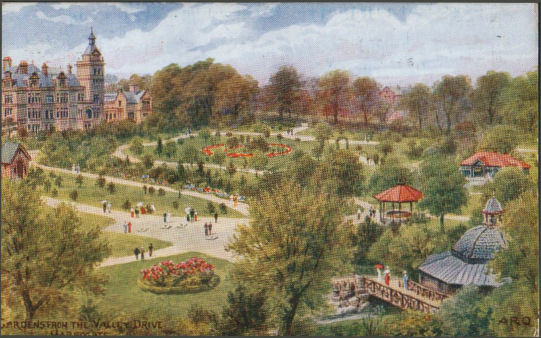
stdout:
<svg viewBox="0 0 541 338">
<path fill-rule="evenodd" d="M 115 222 L 112 218 L 95 214 L 80 212 L 79 216 L 81 217 L 83 229 L 90 229 L 94 228 L 95 226 L 103 229 Z M 128 256 L 133 253 L 135 247 L 146 248 L 150 243 L 152 243 L 152 245 L 154 246 L 154 250 L 166 248 L 173 245 L 173 243 L 171 242 L 166 242 L 146 236 L 109 231 L 102 231 L 102 238 L 109 242 L 109 245 L 111 247 L 111 257 Z"/>
</svg>

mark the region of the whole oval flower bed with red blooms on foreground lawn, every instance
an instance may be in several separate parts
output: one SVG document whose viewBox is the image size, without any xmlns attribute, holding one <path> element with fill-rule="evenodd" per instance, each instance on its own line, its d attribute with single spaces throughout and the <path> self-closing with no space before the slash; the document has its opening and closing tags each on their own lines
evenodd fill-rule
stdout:
<svg viewBox="0 0 541 338">
<path fill-rule="evenodd" d="M 142 269 L 141 274 L 143 277 L 137 279 L 137 286 L 157 294 L 202 292 L 220 283 L 220 277 L 214 274 L 214 266 L 198 257 L 177 264 L 163 261 Z"/>
</svg>

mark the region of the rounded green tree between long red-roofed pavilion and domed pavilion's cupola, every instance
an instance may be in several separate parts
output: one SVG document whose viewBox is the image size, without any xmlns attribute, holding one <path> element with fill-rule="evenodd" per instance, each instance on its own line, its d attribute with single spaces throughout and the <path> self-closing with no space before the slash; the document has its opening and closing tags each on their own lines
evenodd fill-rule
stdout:
<svg viewBox="0 0 541 338">
<path fill-rule="evenodd" d="M 505 205 L 533 187 L 534 185 L 521 168 L 506 167 L 494 175 L 492 182 L 485 184 L 483 197 L 487 201 L 494 194 Z"/>
</svg>

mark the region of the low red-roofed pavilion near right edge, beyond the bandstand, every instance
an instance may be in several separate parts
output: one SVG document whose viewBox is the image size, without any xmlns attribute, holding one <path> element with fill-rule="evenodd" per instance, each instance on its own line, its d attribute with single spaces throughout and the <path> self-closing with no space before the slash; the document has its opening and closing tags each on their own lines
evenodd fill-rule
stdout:
<svg viewBox="0 0 541 338">
<path fill-rule="evenodd" d="M 504 167 L 519 167 L 525 173 L 528 173 L 530 165 L 512 157 L 509 154 L 500 154 L 496 152 L 481 151 L 474 153 L 469 158 L 460 162 L 460 172 L 465 177 L 485 177 L 494 176 Z"/>
</svg>

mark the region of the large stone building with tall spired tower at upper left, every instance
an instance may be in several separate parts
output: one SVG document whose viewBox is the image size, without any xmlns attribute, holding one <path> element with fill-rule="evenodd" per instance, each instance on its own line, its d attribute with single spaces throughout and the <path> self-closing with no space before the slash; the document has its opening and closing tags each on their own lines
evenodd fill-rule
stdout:
<svg viewBox="0 0 541 338">
<path fill-rule="evenodd" d="M 91 31 L 88 46 L 77 60 L 77 75 L 68 64 L 67 71 L 41 69 L 26 61 L 13 66 L 11 58 L 2 59 L 2 119 L 10 119 L 19 129 L 30 133 L 40 130 L 88 129 L 101 121 L 129 118 L 121 114 L 109 119 L 105 114 L 105 62 Z M 140 112 L 134 121 L 140 123 L 151 111 L 147 92 L 138 97 Z M 147 107 L 148 109 L 144 109 Z"/>
</svg>

